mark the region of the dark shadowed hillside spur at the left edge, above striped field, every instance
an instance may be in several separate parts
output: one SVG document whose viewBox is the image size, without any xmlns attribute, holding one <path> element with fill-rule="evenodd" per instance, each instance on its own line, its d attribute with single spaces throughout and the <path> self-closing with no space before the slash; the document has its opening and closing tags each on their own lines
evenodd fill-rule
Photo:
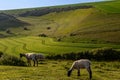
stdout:
<svg viewBox="0 0 120 80">
<path fill-rule="evenodd" d="M 16 17 L 0 13 L 0 38 L 14 36 L 15 34 L 10 30 L 10 28 L 24 28 L 24 26 L 30 25 Z"/>
</svg>

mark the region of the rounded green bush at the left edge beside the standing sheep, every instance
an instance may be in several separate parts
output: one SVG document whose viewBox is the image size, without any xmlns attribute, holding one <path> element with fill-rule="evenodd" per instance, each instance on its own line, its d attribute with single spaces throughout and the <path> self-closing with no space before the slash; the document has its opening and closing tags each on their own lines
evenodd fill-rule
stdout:
<svg viewBox="0 0 120 80">
<path fill-rule="evenodd" d="M 0 65 L 26 66 L 26 63 L 16 56 L 4 54 L 0 58 Z"/>
</svg>

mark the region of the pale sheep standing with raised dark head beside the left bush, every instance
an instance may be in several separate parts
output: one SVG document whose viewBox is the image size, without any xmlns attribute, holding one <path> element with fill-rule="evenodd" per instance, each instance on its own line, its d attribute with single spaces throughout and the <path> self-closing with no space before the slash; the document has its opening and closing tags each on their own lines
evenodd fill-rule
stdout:
<svg viewBox="0 0 120 80">
<path fill-rule="evenodd" d="M 35 63 L 37 63 L 37 66 L 38 66 L 38 60 L 44 60 L 45 57 L 43 54 L 36 54 L 36 53 L 20 53 L 20 58 L 22 58 L 22 56 L 26 57 L 27 59 L 27 62 L 28 62 L 28 65 L 31 66 L 31 60 L 33 60 L 34 62 L 34 65 L 35 66 Z"/>
</svg>

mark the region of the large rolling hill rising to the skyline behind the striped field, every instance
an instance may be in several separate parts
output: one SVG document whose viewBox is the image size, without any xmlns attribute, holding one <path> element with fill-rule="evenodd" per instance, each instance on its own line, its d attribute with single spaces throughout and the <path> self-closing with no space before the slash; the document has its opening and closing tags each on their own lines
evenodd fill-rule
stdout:
<svg viewBox="0 0 120 80">
<path fill-rule="evenodd" d="M 43 34 L 66 42 L 120 43 L 119 3 L 115 0 L 0 12 L 31 24 L 24 26 L 29 30 L 9 26 L 18 36 Z"/>
</svg>

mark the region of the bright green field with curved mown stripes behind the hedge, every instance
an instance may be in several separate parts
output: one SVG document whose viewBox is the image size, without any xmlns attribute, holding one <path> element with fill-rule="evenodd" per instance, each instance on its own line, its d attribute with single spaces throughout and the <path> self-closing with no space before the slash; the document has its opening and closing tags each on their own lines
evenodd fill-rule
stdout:
<svg viewBox="0 0 120 80">
<path fill-rule="evenodd" d="M 52 38 L 34 36 L 1 39 L 0 47 L 0 51 L 16 56 L 19 56 L 18 54 L 21 52 L 42 52 L 44 54 L 50 55 L 81 52 L 104 47 L 120 50 L 120 45 L 118 44 L 56 42 Z"/>
</svg>

